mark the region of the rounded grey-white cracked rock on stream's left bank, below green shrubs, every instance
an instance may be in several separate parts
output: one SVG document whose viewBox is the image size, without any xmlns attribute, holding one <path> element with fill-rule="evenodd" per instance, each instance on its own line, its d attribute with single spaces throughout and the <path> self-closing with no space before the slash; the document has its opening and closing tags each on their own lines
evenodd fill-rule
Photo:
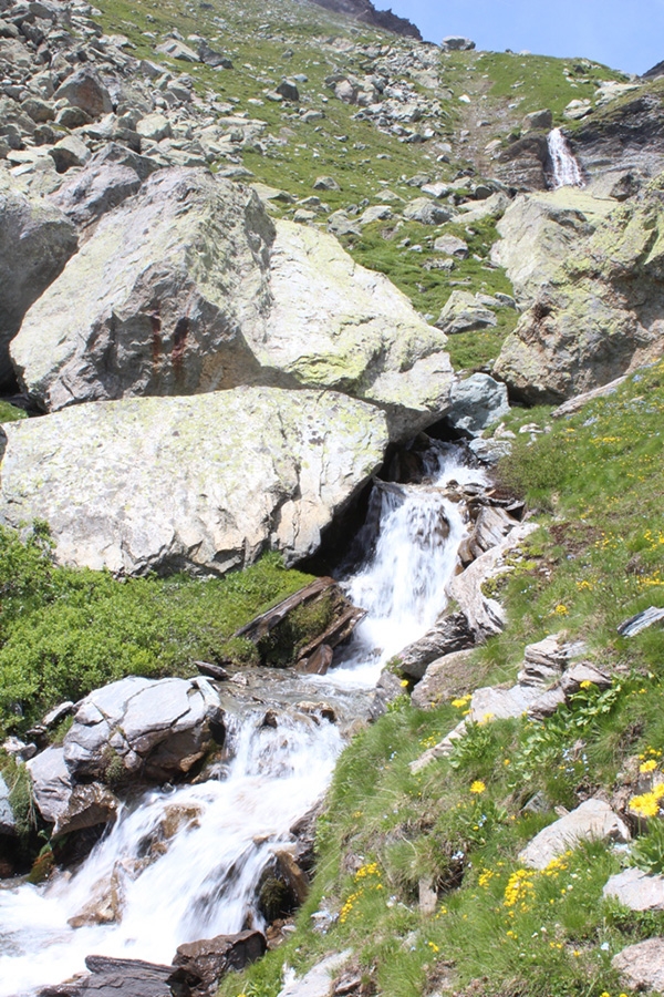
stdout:
<svg viewBox="0 0 664 997">
<path fill-rule="evenodd" d="M 204 679 L 126 678 L 86 696 L 63 741 L 71 777 L 163 782 L 186 774 L 212 743 L 222 711 Z"/>
</svg>

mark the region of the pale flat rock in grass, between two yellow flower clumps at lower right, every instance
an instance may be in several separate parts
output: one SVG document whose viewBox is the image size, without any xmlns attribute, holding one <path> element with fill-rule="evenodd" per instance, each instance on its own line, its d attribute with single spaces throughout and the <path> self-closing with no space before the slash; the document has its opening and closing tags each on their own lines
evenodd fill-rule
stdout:
<svg viewBox="0 0 664 997">
<path fill-rule="evenodd" d="M 630 841 L 626 824 L 603 800 L 587 800 L 540 831 L 520 853 L 519 861 L 530 868 L 546 868 L 549 862 L 582 841 L 608 837 Z"/>
</svg>

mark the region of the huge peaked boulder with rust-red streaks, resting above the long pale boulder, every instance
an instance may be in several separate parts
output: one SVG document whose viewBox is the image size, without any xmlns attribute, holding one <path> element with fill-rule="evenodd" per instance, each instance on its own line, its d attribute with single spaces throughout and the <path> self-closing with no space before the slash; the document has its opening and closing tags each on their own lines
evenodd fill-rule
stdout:
<svg viewBox="0 0 664 997">
<path fill-rule="evenodd" d="M 256 194 L 204 169 L 162 169 L 101 219 L 12 357 L 51 411 L 239 384 L 332 388 L 412 435 L 447 407 L 445 342 L 332 236 L 274 227 Z"/>
</svg>

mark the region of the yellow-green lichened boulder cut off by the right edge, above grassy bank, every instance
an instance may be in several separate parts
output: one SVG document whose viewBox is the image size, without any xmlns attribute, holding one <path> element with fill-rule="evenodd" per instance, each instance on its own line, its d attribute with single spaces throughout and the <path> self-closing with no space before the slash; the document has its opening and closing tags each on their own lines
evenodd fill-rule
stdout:
<svg viewBox="0 0 664 997">
<path fill-rule="evenodd" d="M 495 367 L 515 398 L 562 402 L 664 349 L 664 175 L 568 254 Z"/>
</svg>

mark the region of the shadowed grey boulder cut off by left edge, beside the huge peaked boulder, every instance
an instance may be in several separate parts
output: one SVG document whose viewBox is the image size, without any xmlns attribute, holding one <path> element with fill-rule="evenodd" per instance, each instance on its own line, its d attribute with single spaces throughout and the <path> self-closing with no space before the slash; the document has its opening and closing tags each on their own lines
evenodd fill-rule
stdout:
<svg viewBox="0 0 664 997">
<path fill-rule="evenodd" d="M 55 206 L 0 179 L 0 387 L 13 380 L 9 342 L 23 316 L 77 245 L 74 226 Z"/>
</svg>

